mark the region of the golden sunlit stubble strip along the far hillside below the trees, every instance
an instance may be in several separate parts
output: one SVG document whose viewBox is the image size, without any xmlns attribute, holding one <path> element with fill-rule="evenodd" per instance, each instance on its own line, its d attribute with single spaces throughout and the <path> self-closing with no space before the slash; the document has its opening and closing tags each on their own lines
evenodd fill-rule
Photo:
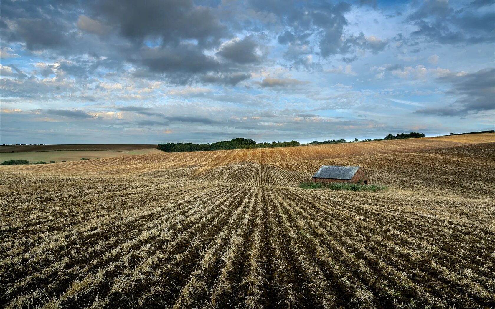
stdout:
<svg viewBox="0 0 495 309">
<path fill-rule="evenodd" d="M 468 137 L 466 137 L 468 136 Z M 132 174 L 147 171 L 177 168 L 223 167 L 283 162 L 303 162 L 336 158 L 366 156 L 374 154 L 411 153 L 459 145 L 495 142 L 495 133 L 454 135 L 442 137 L 410 138 L 359 142 L 346 144 L 323 144 L 286 148 L 240 149 L 223 151 L 197 151 L 150 154 L 99 159 L 93 162 L 71 162 L 64 165 L 26 167 L 17 166 L 17 171 L 87 173 L 87 174 Z M 0 167 L 2 169 L 2 167 Z"/>
</svg>

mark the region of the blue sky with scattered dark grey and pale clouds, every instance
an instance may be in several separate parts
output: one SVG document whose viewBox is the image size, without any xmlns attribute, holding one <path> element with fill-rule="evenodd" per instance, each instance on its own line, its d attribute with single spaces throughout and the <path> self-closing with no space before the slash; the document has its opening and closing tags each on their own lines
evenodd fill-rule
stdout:
<svg viewBox="0 0 495 309">
<path fill-rule="evenodd" d="M 494 20 L 494 0 L 2 0 L 0 144 L 493 130 Z"/>
</svg>

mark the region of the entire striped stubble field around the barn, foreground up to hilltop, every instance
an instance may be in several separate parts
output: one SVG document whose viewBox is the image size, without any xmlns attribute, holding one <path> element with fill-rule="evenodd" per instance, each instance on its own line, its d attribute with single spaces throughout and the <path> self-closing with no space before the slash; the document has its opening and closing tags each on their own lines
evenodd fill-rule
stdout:
<svg viewBox="0 0 495 309">
<path fill-rule="evenodd" d="M 485 133 L 1 166 L 0 305 L 495 308 L 494 157 Z M 298 188 L 321 165 L 389 190 Z"/>
</svg>

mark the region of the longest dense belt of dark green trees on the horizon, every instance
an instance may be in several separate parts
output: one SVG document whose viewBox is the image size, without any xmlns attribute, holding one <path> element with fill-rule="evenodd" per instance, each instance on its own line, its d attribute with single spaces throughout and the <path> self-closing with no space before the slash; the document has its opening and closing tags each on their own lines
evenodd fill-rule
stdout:
<svg viewBox="0 0 495 309">
<path fill-rule="evenodd" d="M 166 152 L 187 152 L 187 151 L 207 151 L 207 150 L 232 150 L 232 149 L 252 149 L 252 148 L 277 148 L 299 146 L 297 140 L 273 141 L 271 143 L 256 143 L 254 140 L 238 137 L 231 140 L 218 141 L 215 143 L 194 144 L 194 143 L 165 143 L 158 144 L 156 149 Z"/>
</svg>

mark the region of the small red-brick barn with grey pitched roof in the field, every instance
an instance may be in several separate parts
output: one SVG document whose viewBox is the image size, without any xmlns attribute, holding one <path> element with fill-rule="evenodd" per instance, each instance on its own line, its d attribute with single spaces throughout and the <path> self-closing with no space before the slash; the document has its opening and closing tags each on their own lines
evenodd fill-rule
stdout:
<svg viewBox="0 0 495 309">
<path fill-rule="evenodd" d="M 313 176 L 313 182 L 349 182 L 356 183 L 360 179 L 368 183 L 368 177 L 359 166 L 324 165 Z"/>
</svg>

